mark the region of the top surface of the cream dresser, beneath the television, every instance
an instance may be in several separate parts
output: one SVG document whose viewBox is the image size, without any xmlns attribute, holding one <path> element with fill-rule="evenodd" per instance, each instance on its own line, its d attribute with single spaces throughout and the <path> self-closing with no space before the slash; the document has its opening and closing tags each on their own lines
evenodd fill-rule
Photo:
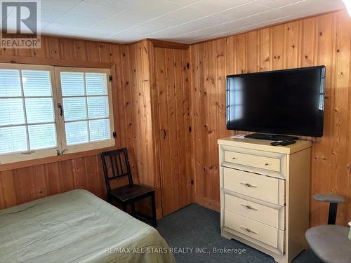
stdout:
<svg viewBox="0 0 351 263">
<path fill-rule="evenodd" d="M 233 138 L 226 137 L 218 140 L 219 145 L 227 145 L 232 147 L 240 147 L 246 149 L 256 149 L 260 151 L 272 151 L 280 154 L 293 154 L 297 151 L 311 147 L 312 142 L 308 140 L 297 140 L 296 143 L 287 146 L 272 146 L 270 140 L 256 140 L 249 138 Z"/>
</svg>

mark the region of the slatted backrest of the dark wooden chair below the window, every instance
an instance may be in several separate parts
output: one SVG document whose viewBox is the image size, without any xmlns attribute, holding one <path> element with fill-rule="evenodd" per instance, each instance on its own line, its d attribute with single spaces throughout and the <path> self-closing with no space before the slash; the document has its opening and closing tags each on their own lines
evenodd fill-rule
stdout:
<svg viewBox="0 0 351 263">
<path fill-rule="evenodd" d="M 111 191 L 111 180 L 124 176 L 128 176 L 129 185 L 133 186 L 131 167 L 129 166 L 128 152 L 126 148 L 102 152 L 101 161 L 107 191 Z"/>
</svg>

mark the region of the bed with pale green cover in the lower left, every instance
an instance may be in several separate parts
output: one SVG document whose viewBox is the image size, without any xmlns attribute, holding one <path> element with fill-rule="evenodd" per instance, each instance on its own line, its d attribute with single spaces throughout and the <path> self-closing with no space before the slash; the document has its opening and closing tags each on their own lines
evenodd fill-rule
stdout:
<svg viewBox="0 0 351 263">
<path fill-rule="evenodd" d="M 0 262 L 175 262 L 159 232 L 86 190 L 0 210 Z"/>
</svg>

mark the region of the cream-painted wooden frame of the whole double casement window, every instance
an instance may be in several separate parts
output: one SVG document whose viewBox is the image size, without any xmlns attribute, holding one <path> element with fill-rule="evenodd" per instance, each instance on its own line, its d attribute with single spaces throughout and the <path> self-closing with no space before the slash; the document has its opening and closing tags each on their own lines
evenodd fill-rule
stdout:
<svg viewBox="0 0 351 263">
<path fill-rule="evenodd" d="M 100 65 L 99 65 L 100 66 Z M 0 154 L 0 166 L 11 163 L 18 163 L 22 161 L 34 161 L 35 159 L 44 159 L 47 157 L 67 155 L 73 153 L 82 153 L 84 151 L 92 151 L 98 149 L 106 149 L 114 147 L 116 145 L 116 140 L 114 137 L 114 111 L 112 103 L 112 83 L 109 81 L 109 77 L 112 74 L 111 68 L 98 68 L 98 67 L 80 67 L 78 66 L 60 66 L 55 67 L 54 65 L 41 65 L 41 64 L 21 64 L 21 63 L 0 63 L 1 69 L 18 69 L 20 70 L 20 85 L 21 85 L 21 97 L 25 100 L 22 87 L 22 74 L 21 71 L 24 69 L 29 70 L 45 70 L 50 72 L 51 81 L 51 95 L 53 98 L 53 113 L 55 117 L 55 130 L 56 130 L 56 147 L 47 149 L 37 149 L 29 151 L 17 151 L 6 154 Z M 101 140 L 96 142 L 88 142 L 85 144 L 76 144 L 72 146 L 67 146 L 66 135 L 65 135 L 65 119 L 64 115 L 60 116 L 60 109 L 58 108 L 58 103 L 62 103 L 62 88 L 60 85 L 60 72 L 91 72 L 91 73 L 105 73 L 107 82 L 107 101 L 109 104 L 109 119 L 110 119 L 110 140 Z M 4 97 L 6 98 L 6 97 Z M 23 102 L 24 103 L 24 102 Z M 63 109 L 65 111 L 65 109 Z M 25 109 L 24 109 L 25 114 Z M 88 114 L 88 112 L 87 112 Z M 88 117 L 88 116 L 87 116 Z M 27 116 L 25 116 L 27 120 Z M 27 121 L 24 124 L 26 130 L 28 127 Z"/>
</svg>

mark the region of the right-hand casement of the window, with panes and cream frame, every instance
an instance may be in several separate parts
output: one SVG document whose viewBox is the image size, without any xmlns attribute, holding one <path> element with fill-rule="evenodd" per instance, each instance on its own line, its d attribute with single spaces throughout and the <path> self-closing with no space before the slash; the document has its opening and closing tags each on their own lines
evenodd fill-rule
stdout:
<svg viewBox="0 0 351 263">
<path fill-rule="evenodd" d="M 56 67 L 55 76 L 61 87 L 58 97 L 62 101 L 64 151 L 112 146 L 112 101 L 107 84 L 110 69 Z"/>
</svg>

